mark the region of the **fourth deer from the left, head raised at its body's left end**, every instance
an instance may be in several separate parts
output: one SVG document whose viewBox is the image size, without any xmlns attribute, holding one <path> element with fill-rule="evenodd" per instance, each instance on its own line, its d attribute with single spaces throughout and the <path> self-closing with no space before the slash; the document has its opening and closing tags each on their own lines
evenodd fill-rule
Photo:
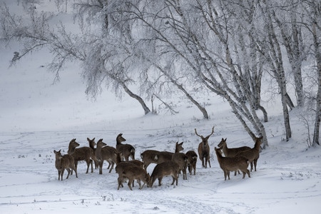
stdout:
<svg viewBox="0 0 321 214">
<path fill-rule="evenodd" d="M 121 161 L 121 156 L 119 156 L 116 148 L 107 146 L 106 143 L 103 143 L 103 138 L 97 141 L 96 158 L 98 160 L 99 174 L 103 174 L 103 161 L 111 163 L 109 173 L 113 170 L 113 165 L 115 165 L 115 163 L 118 164 Z"/>
</svg>

